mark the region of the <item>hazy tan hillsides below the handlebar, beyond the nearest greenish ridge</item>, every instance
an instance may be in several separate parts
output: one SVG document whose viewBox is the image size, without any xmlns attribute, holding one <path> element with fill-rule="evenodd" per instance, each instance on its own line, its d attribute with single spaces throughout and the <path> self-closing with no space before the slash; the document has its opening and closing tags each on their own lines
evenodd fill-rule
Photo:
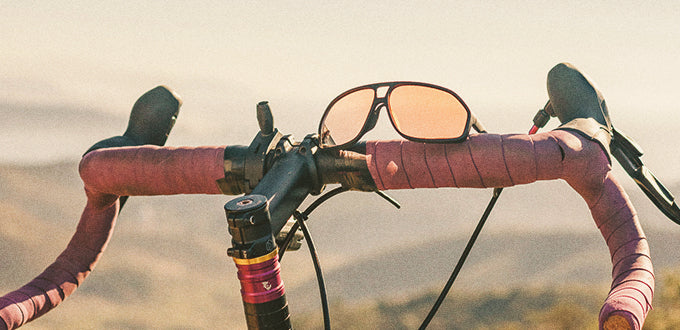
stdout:
<svg viewBox="0 0 680 330">
<path fill-rule="evenodd" d="M 606 286 L 611 271 L 606 246 L 583 201 L 570 190 L 563 182 L 506 189 L 454 292 Z M 680 192 L 680 186 L 671 190 Z M 680 228 L 639 191 L 629 193 L 650 237 L 657 272 L 676 267 Z M 331 199 L 312 214 L 309 226 L 332 300 L 355 304 L 438 289 L 490 191 L 390 194 L 402 202 L 401 210 L 375 194 L 353 192 Z M 92 275 L 74 296 L 32 326 L 242 327 L 238 281 L 226 256 L 229 237 L 222 205 L 229 199 L 130 199 Z M 0 166 L 3 294 L 54 260 L 72 235 L 84 203 L 77 164 Z M 307 259 L 303 248 L 283 260 L 293 312 L 318 306 Z"/>
</svg>

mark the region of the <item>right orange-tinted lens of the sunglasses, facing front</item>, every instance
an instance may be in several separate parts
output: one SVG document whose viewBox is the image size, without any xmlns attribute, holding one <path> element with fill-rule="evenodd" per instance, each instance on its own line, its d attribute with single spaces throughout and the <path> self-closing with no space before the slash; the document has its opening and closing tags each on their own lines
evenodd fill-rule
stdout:
<svg viewBox="0 0 680 330">
<path fill-rule="evenodd" d="M 395 128 L 416 139 L 458 139 L 465 134 L 469 112 L 451 93 L 428 86 L 402 85 L 388 104 Z"/>
</svg>

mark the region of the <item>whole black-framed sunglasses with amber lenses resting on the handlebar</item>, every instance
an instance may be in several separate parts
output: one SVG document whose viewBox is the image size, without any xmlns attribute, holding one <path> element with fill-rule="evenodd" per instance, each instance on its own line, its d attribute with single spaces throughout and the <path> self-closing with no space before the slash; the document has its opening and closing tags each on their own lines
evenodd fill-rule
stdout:
<svg viewBox="0 0 680 330">
<path fill-rule="evenodd" d="M 347 148 L 375 127 L 385 108 L 407 140 L 450 143 L 467 138 L 471 113 L 453 91 L 420 82 L 385 82 L 352 88 L 336 97 L 319 124 L 322 148 Z"/>
</svg>

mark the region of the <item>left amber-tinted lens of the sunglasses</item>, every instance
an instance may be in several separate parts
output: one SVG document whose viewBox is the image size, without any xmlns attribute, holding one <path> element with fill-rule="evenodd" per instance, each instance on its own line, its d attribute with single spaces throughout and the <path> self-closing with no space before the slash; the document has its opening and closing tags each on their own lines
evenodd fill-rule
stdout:
<svg viewBox="0 0 680 330">
<path fill-rule="evenodd" d="M 360 89 L 336 100 L 326 111 L 319 128 L 319 136 L 325 146 L 342 145 L 361 133 L 371 112 L 375 91 Z"/>
</svg>

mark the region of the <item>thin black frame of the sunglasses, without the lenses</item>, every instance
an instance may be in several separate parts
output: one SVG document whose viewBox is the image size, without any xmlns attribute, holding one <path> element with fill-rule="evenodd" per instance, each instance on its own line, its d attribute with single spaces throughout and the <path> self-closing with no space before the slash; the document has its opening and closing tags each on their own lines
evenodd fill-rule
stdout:
<svg viewBox="0 0 680 330">
<path fill-rule="evenodd" d="M 458 102 L 460 102 L 461 105 L 463 105 L 463 108 L 465 108 L 465 111 L 467 112 L 467 120 L 465 123 L 465 129 L 463 133 L 461 134 L 460 137 L 457 138 L 449 138 L 449 139 L 424 139 L 424 138 L 417 138 L 413 136 L 406 135 L 402 133 L 398 128 L 397 125 L 394 123 L 394 119 L 392 117 L 392 109 L 389 107 L 389 97 L 392 91 L 394 91 L 395 88 L 399 86 L 422 86 L 422 87 L 430 87 L 433 89 L 437 89 L 446 93 L 451 94 L 453 97 L 455 97 Z M 385 96 L 383 97 L 378 97 L 378 89 L 379 88 L 384 88 L 387 87 L 387 92 L 385 92 Z M 326 145 L 324 144 L 325 136 L 323 132 L 323 126 L 324 122 L 326 121 L 326 117 L 328 116 L 328 113 L 330 112 L 331 108 L 333 108 L 333 105 L 343 99 L 345 96 L 352 94 L 354 92 L 364 90 L 364 89 L 372 89 L 373 90 L 373 103 L 371 104 L 371 110 L 369 110 L 368 115 L 366 116 L 366 119 L 364 121 L 363 126 L 361 127 L 361 130 L 357 134 L 356 137 L 352 138 L 349 142 L 339 144 L 339 145 Z M 321 117 L 321 122 L 319 123 L 319 140 L 320 140 L 320 147 L 323 149 L 344 149 L 347 147 L 351 147 L 352 145 L 356 144 L 361 137 L 363 137 L 366 133 L 368 133 L 370 130 L 375 127 L 375 124 L 378 120 L 378 116 L 380 114 L 380 110 L 382 108 L 385 108 L 387 110 L 387 116 L 390 118 L 390 123 L 392 123 L 392 127 L 394 127 L 394 130 L 399 133 L 403 138 L 410 140 L 410 141 L 415 141 L 415 142 L 424 142 L 424 143 L 454 143 L 454 142 L 460 142 L 465 139 L 467 139 L 468 135 L 470 134 L 470 127 L 472 126 L 472 112 L 470 111 L 470 108 L 468 108 L 467 104 L 463 101 L 463 99 L 458 96 L 454 91 L 434 85 L 434 84 L 429 84 L 429 83 L 423 83 L 423 82 L 415 82 L 415 81 L 390 81 L 390 82 L 382 82 L 382 83 L 373 83 L 373 84 L 368 84 L 368 85 L 363 85 L 359 87 L 352 88 L 350 90 L 347 90 L 343 92 L 342 94 L 338 95 L 335 97 L 331 103 L 328 104 L 328 107 L 326 107 L 326 111 L 324 111 L 323 116 Z"/>
</svg>

